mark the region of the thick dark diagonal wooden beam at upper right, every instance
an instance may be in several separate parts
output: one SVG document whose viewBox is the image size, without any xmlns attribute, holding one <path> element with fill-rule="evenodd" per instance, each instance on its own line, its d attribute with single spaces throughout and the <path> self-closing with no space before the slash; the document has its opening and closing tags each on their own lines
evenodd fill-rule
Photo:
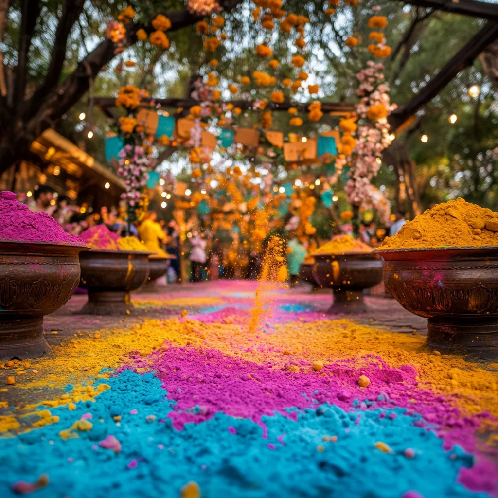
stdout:
<svg viewBox="0 0 498 498">
<path fill-rule="evenodd" d="M 418 0 L 417 0 L 418 1 Z M 474 59 L 498 38 L 498 23 L 488 22 L 463 46 L 407 104 L 389 116 L 391 127 L 396 130 L 422 106 L 430 102 L 460 71 L 472 65 Z"/>
</svg>

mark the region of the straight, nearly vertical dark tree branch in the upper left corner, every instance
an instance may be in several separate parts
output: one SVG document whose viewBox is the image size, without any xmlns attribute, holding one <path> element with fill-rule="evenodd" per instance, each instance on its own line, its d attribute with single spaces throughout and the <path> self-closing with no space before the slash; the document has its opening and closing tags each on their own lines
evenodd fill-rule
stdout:
<svg viewBox="0 0 498 498">
<path fill-rule="evenodd" d="M 21 1 L 21 28 L 19 33 L 17 66 L 15 67 L 15 87 L 13 89 L 12 102 L 9 103 L 17 115 L 21 113 L 21 108 L 23 107 L 27 78 L 27 56 L 40 9 L 41 5 L 38 0 Z"/>
</svg>

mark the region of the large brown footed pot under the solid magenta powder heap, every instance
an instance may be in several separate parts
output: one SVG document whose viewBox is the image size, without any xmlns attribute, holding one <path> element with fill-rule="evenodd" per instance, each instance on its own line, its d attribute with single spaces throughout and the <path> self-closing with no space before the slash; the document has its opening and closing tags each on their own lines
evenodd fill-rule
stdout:
<svg viewBox="0 0 498 498">
<path fill-rule="evenodd" d="M 86 250 L 0 241 L 0 360 L 39 358 L 50 350 L 43 317 L 73 295 L 80 280 L 78 254 Z"/>
</svg>

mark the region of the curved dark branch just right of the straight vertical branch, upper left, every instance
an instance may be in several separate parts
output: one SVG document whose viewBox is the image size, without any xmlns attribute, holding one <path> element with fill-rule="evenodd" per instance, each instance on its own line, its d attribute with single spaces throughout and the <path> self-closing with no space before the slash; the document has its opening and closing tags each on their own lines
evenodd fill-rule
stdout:
<svg viewBox="0 0 498 498">
<path fill-rule="evenodd" d="M 50 90 L 59 81 L 66 60 L 67 39 L 73 29 L 74 23 L 80 17 L 83 11 L 85 0 L 66 0 L 62 10 L 62 16 L 57 24 L 55 32 L 54 46 L 52 49 L 52 58 L 48 66 L 45 81 L 34 91 L 31 103 L 35 104 L 46 97 Z M 85 47 L 86 48 L 86 47 Z"/>
</svg>

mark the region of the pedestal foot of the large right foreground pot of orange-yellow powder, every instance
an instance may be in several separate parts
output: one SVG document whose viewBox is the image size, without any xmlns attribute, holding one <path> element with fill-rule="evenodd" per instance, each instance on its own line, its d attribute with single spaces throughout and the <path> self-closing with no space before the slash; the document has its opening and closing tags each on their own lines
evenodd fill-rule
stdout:
<svg viewBox="0 0 498 498">
<path fill-rule="evenodd" d="M 426 345 L 445 354 L 472 360 L 498 360 L 498 320 L 429 318 Z"/>
</svg>

